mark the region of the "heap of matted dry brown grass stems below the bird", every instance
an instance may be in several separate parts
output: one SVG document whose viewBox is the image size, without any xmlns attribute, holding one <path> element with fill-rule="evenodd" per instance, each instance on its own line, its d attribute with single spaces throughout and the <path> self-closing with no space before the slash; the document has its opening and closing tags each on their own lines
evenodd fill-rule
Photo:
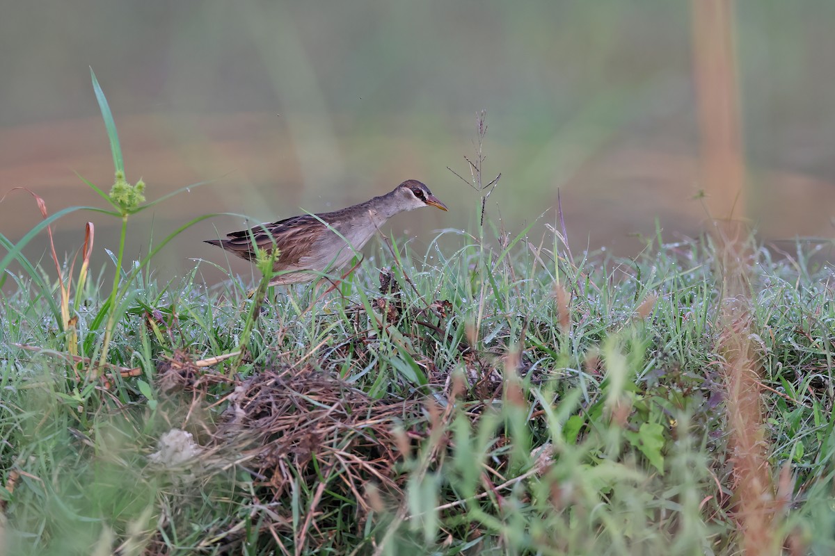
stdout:
<svg viewBox="0 0 835 556">
<path fill-rule="evenodd" d="M 233 458 L 235 466 L 247 469 L 255 478 L 251 503 L 271 508 L 260 526 L 276 540 L 292 533 L 293 512 L 299 508 L 292 507 L 291 499 L 298 491 L 312 493 L 311 502 L 301 508 L 297 553 L 329 543 L 346 508 L 357 513 L 349 520 L 356 519 L 362 528 L 373 508 L 403 498 L 396 467 L 402 450 L 423 435 L 415 427 L 426 420 L 420 399 L 370 398 L 311 365 L 267 368 L 235 381 L 207 372 L 180 353 L 159 371 L 160 390 L 187 401 L 187 410 L 179 413 L 188 415 L 175 422 L 202 428 L 204 468 L 228 467 Z M 207 394 L 217 382 L 229 382 L 232 392 L 217 399 Z M 228 407 L 216 428 L 210 428 L 205 408 L 217 403 Z M 402 423 L 412 428 L 398 432 Z M 356 504 L 341 504 L 340 498 Z M 234 531 L 227 533 L 227 541 L 236 538 Z"/>
</svg>

